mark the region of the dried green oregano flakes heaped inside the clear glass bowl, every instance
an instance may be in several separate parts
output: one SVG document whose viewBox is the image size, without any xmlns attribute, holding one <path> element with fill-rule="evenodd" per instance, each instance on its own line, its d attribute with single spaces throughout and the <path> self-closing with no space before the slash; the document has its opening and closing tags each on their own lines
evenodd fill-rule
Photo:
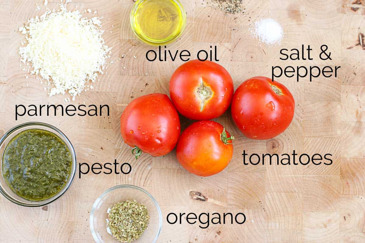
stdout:
<svg viewBox="0 0 365 243">
<path fill-rule="evenodd" d="M 149 212 L 137 201 L 122 201 L 108 212 L 108 228 L 113 237 L 121 242 L 137 240 L 148 227 Z"/>
</svg>

